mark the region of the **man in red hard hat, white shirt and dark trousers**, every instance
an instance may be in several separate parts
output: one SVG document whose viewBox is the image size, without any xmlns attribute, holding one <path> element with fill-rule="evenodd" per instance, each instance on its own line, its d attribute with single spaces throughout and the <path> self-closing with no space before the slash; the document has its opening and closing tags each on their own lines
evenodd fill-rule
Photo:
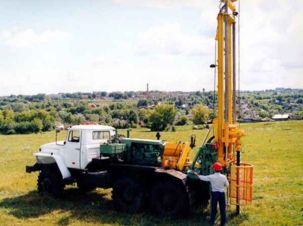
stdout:
<svg viewBox="0 0 303 226">
<path fill-rule="evenodd" d="M 199 175 L 197 172 L 193 172 L 201 180 L 210 182 L 212 185 L 211 194 L 211 221 L 215 224 L 217 215 L 217 204 L 219 202 L 220 214 L 221 214 L 221 225 L 227 223 L 226 217 L 226 204 L 225 204 L 225 187 L 229 186 L 228 180 L 225 175 L 221 174 L 220 171 L 222 166 L 219 162 L 213 164 L 214 174 L 208 176 Z"/>
</svg>

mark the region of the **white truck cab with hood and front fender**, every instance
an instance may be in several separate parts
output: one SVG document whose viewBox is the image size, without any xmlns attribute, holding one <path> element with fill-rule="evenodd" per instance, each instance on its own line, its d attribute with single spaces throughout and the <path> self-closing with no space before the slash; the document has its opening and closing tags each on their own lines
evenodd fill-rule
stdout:
<svg viewBox="0 0 303 226">
<path fill-rule="evenodd" d="M 74 125 L 68 129 L 66 140 L 40 146 L 34 156 L 39 164 L 57 163 L 63 178 L 70 177 L 68 168 L 84 170 L 92 158 L 100 156 L 100 144 L 115 135 L 107 125 Z"/>
</svg>

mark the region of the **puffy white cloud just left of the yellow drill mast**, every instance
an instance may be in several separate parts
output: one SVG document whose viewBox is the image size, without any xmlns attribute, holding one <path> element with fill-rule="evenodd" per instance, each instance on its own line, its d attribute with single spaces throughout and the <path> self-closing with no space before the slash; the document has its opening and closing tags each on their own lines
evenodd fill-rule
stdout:
<svg viewBox="0 0 303 226">
<path fill-rule="evenodd" d="M 200 56 L 210 54 L 213 38 L 183 33 L 178 23 L 165 23 L 138 34 L 137 44 L 127 48 L 142 55 Z"/>
</svg>

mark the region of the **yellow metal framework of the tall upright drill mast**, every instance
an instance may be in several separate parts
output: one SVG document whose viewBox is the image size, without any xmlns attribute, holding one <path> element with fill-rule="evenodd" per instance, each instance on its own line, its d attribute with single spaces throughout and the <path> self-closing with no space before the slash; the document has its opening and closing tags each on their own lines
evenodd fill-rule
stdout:
<svg viewBox="0 0 303 226">
<path fill-rule="evenodd" d="M 222 3 L 228 6 L 228 9 L 234 12 L 236 10 L 233 5 L 233 0 L 222 0 Z M 231 27 L 233 23 L 236 23 L 234 17 L 228 12 L 221 12 L 218 14 L 218 29 L 216 34 L 216 40 L 218 42 L 218 118 L 213 120 L 213 126 L 215 130 L 214 142 L 219 143 L 218 150 L 218 162 L 222 166 L 229 166 L 229 163 L 235 163 L 234 153 L 235 151 L 241 151 L 241 137 L 245 135 L 245 131 L 237 128 L 236 124 L 232 123 L 232 72 L 235 70 L 232 67 L 232 32 Z M 225 37 L 225 20 L 227 20 L 227 37 Z M 225 41 L 227 40 L 228 51 L 225 51 Z M 228 57 L 228 70 L 225 71 L 225 57 Z M 228 109 L 224 109 L 224 87 L 225 76 L 228 76 Z M 224 112 L 228 111 L 227 118 L 225 118 Z M 227 153 L 225 149 L 227 147 Z"/>
</svg>

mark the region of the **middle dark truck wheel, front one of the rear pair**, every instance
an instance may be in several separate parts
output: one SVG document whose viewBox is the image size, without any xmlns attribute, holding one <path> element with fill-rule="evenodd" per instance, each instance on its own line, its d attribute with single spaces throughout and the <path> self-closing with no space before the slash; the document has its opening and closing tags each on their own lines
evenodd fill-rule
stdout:
<svg viewBox="0 0 303 226">
<path fill-rule="evenodd" d="M 118 211 L 135 213 L 143 206 L 144 189 L 137 180 L 125 176 L 115 183 L 112 198 Z"/>
</svg>

